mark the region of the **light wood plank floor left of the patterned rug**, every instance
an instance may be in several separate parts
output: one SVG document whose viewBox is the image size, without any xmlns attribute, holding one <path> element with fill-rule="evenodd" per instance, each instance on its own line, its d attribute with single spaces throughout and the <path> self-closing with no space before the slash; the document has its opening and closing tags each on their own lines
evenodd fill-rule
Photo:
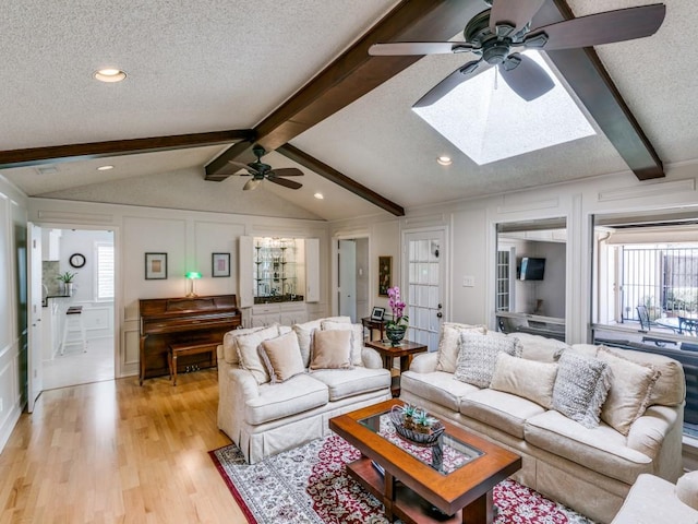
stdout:
<svg viewBox="0 0 698 524">
<path fill-rule="evenodd" d="M 207 452 L 215 370 L 46 391 L 0 454 L 0 523 L 244 523 Z"/>
</svg>

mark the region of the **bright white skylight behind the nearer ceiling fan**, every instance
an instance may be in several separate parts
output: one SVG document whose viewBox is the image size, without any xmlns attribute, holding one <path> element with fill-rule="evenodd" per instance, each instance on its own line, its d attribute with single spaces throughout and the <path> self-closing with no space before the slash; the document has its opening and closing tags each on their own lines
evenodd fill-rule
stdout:
<svg viewBox="0 0 698 524">
<path fill-rule="evenodd" d="M 526 55 L 555 83 L 543 96 L 526 102 L 490 68 L 414 112 L 478 165 L 595 134 L 543 57 Z"/>
</svg>

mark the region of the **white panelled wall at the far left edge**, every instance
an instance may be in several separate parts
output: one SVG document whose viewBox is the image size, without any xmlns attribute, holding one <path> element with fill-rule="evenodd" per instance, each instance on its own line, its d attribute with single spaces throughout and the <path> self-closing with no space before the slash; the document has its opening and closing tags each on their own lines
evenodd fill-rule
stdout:
<svg viewBox="0 0 698 524">
<path fill-rule="evenodd" d="M 26 240 L 25 196 L 0 176 L 0 451 L 26 404 L 26 289 L 21 289 L 17 242 Z M 24 246 L 26 253 L 26 246 Z M 25 272 L 26 267 L 24 269 Z"/>
</svg>

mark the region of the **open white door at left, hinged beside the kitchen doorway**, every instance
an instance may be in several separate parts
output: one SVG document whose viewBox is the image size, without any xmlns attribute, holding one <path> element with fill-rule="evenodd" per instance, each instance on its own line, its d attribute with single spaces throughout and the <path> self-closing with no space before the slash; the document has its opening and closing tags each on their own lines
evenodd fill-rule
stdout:
<svg viewBox="0 0 698 524">
<path fill-rule="evenodd" d="M 41 228 L 27 225 L 27 245 L 29 246 L 29 350 L 27 354 L 27 410 L 34 412 L 34 402 L 41 394 L 44 378 L 41 374 Z"/>
</svg>

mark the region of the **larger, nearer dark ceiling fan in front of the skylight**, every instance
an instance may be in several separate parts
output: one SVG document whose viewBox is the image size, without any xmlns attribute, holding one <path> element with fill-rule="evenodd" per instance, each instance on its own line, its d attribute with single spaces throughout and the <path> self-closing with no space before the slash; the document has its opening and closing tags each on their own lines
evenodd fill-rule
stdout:
<svg viewBox="0 0 698 524">
<path fill-rule="evenodd" d="M 535 61 L 519 50 L 543 51 L 590 47 L 650 36 L 666 14 L 663 3 L 618 9 L 565 20 L 531 29 L 531 20 L 545 0 L 484 0 L 491 9 L 473 16 L 464 29 L 465 41 L 401 41 L 374 44 L 373 56 L 472 52 L 478 60 L 458 68 L 412 107 L 431 106 L 468 79 L 496 67 L 521 98 L 532 100 L 554 87 Z"/>
</svg>

